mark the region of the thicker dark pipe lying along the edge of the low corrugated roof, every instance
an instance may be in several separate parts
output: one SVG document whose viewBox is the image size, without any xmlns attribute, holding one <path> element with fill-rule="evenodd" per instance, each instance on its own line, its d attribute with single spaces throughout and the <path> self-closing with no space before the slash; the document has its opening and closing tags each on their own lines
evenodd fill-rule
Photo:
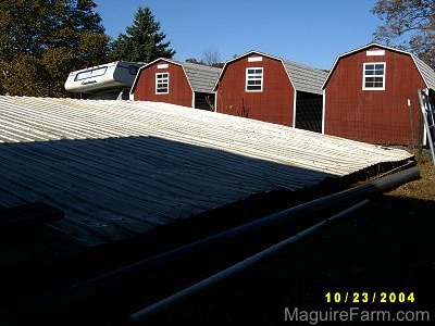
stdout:
<svg viewBox="0 0 435 326">
<path fill-rule="evenodd" d="M 158 266 L 159 264 L 167 263 L 175 258 L 183 256 L 186 253 L 199 251 L 213 243 L 224 243 L 228 239 L 239 237 L 249 231 L 258 230 L 262 227 L 283 223 L 301 215 L 312 214 L 322 210 L 337 206 L 343 203 L 357 202 L 365 199 L 368 196 L 384 192 L 388 189 L 398 187 L 411 179 L 419 177 L 420 172 L 417 166 L 397 172 L 393 175 L 382 177 L 368 184 L 346 189 L 333 195 L 328 195 L 294 208 L 271 214 L 269 216 L 256 220 L 253 222 L 221 231 L 216 235 L 200 239 L 198 241 L 178 247 L 166 251 L 162 254 L 146 259 L 134 264 L 121 267 L 113 272 L 103 274 L 96 278 L 76 284 L 69 290 L 70 296 L 86 296 L 87 291 L 95 292 L 98 288 L 113 288 L 123 286 L 127 279 L 138 279 L 140 275 Z"/>
</svg>

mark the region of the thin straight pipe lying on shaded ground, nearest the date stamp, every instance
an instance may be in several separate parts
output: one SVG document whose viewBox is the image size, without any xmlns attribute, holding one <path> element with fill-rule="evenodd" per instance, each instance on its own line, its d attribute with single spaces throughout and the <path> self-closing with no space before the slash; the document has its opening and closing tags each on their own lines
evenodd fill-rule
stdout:
<svg viewBox="0 0 435 326">
<path fill-rule="evenodd" d="M 153 313 L 157 313 L 160 310 L 163 310 L 174 303 L 176 303 L 177 301 L 182 300 L 183 298 L 186 298 L 188 296 L 191 296 L 200 290 L 202 290 L 206 287 L 209 287 L 222 279 L 225 279 L 229 276 L 233 276 L 236 273 L 241 272 L 243 269 L 248 268 L 249 266 L 260 262 L 261 260 L 265 259 L 266 256 L 283 250 L 285 247 L 295 243 L 303 238 L 306 238 L 307 236 L 318 231 L 319 229 L 323 228 L 324 226 L 326 226 L 328 223 L 339 220 L 344 216 L 346 216 L 349 213 L 352 213 L 353 211 L 360 209 L 361 206 L 365 205 L 369 203 L 370 200 L 365 199 L 350 208 L 348 208 L 347 210 L 344 210 L 341 212 L 339 212 L 338 214 L 335 214 L 272 247 L 269 247 L 268 249 L 260 251 L 259 253 L 251 255 L 250 258 L 235 264 L 232 265 L 179 292 L 176 292 L 159 302 L 156 302 L 154 304 L 151 304 L 150 306 L 147 306 L 138 312 L 135 312 L 133 314 L 129 315 L 130 319 L 134 322 L 140 322 L 144 321 L 145 318 L 147 318 L 148 316 L 150 316 Z"/>
</svg>

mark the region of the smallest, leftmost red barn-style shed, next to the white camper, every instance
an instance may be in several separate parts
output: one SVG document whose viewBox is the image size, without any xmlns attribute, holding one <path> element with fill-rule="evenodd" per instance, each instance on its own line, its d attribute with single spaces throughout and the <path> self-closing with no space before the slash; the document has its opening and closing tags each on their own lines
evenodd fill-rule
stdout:
<svg viewBox="0 0 435 326">
<path fill-rule="evenodd" d="M 213 87 L 220 73 L 217 67 L 158 59 L 140 67 L 130 92 L 138 101 L 214 111 Z"/>
</svg>

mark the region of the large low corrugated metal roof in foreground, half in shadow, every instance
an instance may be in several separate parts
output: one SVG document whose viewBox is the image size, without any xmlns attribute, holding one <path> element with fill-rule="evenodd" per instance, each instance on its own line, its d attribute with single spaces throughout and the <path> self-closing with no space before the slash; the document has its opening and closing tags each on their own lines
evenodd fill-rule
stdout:
<svg viewBox="0 0 435 326">
<path fill-rule="evenodd" d="M 134 101 L 0 97 L 0 206 L 42 201 L 84 244 L 251 193 L 410 155 L 260 121 Z"/>
</svg>

